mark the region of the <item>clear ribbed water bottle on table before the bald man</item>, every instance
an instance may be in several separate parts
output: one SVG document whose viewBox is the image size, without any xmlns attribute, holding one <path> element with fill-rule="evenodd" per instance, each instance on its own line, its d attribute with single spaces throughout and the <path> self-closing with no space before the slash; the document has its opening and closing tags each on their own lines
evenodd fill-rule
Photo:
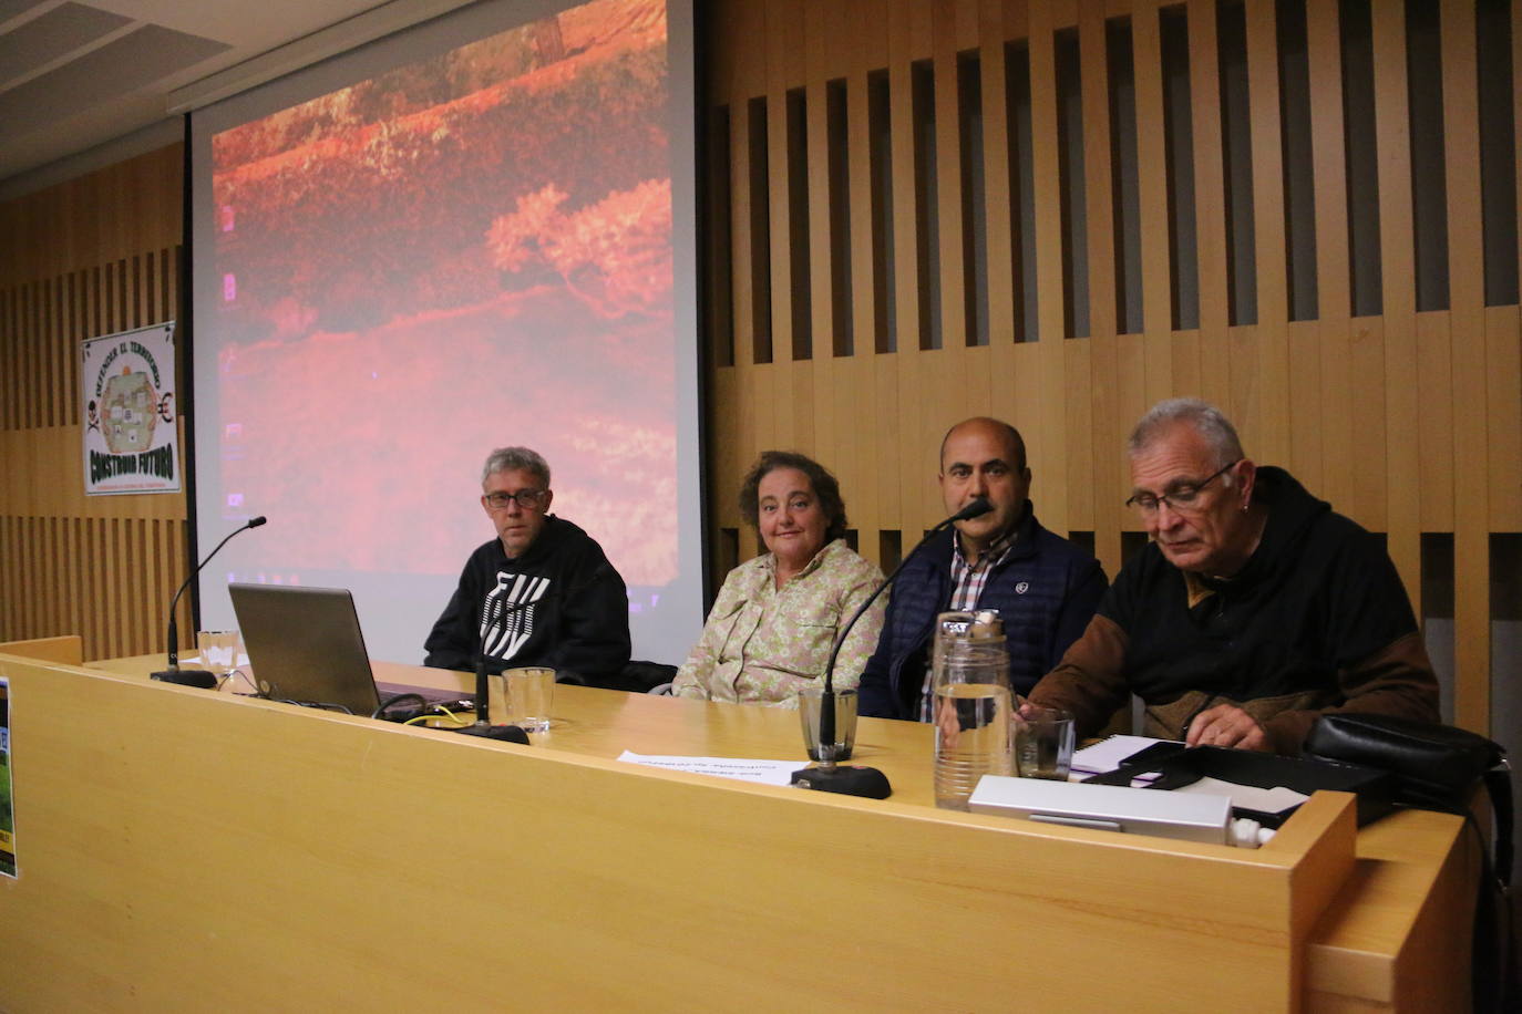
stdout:
<svg viewBox="0 0 1522 1014">
<path fill-rule="evenodd" d="M 936 620 L 931 713 L 936 749 L 936 806 L 965 810 L 977 780 L 1014 774 L 1009 651 L 998 616 L 986 611 L 965 625 Z M 960 614 L 966 616 L 966 614 Z"/>
</svg>

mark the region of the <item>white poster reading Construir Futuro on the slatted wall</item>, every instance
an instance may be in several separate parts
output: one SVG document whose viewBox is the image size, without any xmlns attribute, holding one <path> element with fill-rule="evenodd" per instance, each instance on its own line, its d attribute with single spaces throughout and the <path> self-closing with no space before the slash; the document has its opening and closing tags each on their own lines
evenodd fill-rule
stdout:
<svg viewBox="0 0 1522 1014">
<path fill-rule="evenodd" d="M 85 493 L 178 491 L 174 321 L 79 348 Z"/>
</svg>

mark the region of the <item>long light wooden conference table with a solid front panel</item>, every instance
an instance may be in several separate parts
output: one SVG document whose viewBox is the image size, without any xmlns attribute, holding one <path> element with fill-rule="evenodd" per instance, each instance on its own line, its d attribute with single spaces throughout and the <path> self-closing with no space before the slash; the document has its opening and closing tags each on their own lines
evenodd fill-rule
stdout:
<svg viewBox="0 0 1522 1014">
<path fill-rule="evenodd" d="M 790 711 L 557 687 L 531 746 L 0 654 L 0 1009 L 1461 1009 L 1457 818 L 1320 794 L 1250 851 L 656 771 Z M 469 677 L 376 664 L 379 680 Z"/>
</svg>

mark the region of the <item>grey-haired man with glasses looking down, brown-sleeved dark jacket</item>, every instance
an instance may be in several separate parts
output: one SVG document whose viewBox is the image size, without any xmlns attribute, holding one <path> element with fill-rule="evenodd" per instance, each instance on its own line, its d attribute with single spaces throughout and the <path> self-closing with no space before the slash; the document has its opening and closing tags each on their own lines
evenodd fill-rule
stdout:
<svg viewBox="0 0 1522 1014">
<path fill-rule="evenodd" d="M 1151 543 L 1030 699 L 1094 734 L 1131 693 L 1143 733 L 1295 754 L 1327 711 L 1438 721 L 1437 680 L 1383 543 L 1288 471 L 1257 467 L 1215 407 L 1173 398 L 1131 433 Z"/>
</svg>

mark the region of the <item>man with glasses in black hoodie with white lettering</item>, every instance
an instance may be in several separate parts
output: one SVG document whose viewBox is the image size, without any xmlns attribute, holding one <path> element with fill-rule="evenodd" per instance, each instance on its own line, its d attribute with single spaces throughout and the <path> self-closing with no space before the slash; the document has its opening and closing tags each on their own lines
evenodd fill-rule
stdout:
<svg viewBox="0 0 1522 1014">
<path fill-rule="evenodd" d="M 492 672 L 548 666 L 560 680 L 616 686 L 629 661 L 629 594 L 603 547 L 549 514 L 549 465 L 501 447 L 481 470 L 481 506 L 496 538 L 466 561 L 423 664 Z"/>
</svg>

